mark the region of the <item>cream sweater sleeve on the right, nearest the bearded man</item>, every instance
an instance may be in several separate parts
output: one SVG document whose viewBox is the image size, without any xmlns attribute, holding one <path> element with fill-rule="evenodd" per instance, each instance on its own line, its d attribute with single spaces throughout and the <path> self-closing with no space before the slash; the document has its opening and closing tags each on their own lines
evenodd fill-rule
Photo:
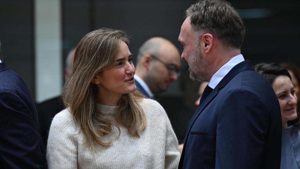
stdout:
<svg viewBox="0 0 300 169">
<path fill-rule="evenodd" d="M 163 109 L 163 108 L 162 108 Z M 163 109 L 164 116 L 166 118 L 166 149 L 165 149 L 165 168 L 166 169 L 177 169 L 180 153 L 178 151 L 178 140 L 173 131 L 171 122 Z"/>
</svg>

